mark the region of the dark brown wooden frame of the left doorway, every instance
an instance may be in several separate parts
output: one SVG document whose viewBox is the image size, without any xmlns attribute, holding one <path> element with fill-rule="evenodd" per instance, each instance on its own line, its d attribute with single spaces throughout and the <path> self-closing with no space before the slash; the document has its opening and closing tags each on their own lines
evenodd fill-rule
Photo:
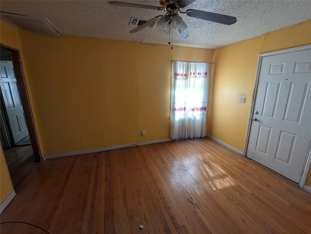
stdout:
<svg viewBox="0 0 311 234">
<path fill-rule="evenodd" d="M 41 154 L 41 150 L 40 150 L 40 146 L 38 142 L 38 135 L 35 129 L 34 115 L 31 109 L 31 105 L 30 105 L 27 84 L 25 81 L 24 73 L 23 73 L 19 50 L 16 48 L 4 45 L 2 43 L 0 43 L 0 46 L 7 50 L 10 50 L 11 52 L 12 63 L 14 67 L 16 80 L 17 80 L 17 87 L 18 87 L 21 103 L 23 106 L 24 114 L 25 114 L 25 119 L 27 123 L 31 145 L 32 145 L 33 152 L 35 155 L 35 162 L 42 162 L 43 158 L 42 158 L 42 154 Z"/>
</svg>

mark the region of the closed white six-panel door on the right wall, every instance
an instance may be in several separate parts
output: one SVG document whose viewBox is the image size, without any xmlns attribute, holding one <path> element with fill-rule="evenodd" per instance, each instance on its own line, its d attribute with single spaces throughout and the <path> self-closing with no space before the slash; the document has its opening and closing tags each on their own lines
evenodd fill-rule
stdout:
<svg viewBox="0 0 311 234">
<path fill-rule="evenodd" d="M 311 143 L 311 50 L 262 57 L 246 156 L 299 183 Z"/>
</svg>

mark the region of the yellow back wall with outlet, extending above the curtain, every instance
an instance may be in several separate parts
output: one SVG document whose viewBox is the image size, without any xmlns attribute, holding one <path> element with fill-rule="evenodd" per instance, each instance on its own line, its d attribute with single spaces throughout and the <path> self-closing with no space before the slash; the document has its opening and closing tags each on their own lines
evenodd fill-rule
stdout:
<svg viewBox="0 0 311 234">
<path fill-rule="evenodd" d="M 26 31 L 19 36 L 43 155 L 169 138 L 170 60 L 210 62 L 213 52 Z"/>
</svg>

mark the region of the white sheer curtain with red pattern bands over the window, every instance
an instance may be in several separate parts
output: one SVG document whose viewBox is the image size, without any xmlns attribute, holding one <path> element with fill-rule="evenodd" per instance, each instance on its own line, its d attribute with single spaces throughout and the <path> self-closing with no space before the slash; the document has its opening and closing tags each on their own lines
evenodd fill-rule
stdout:
<svg viewBox="0 0 311 234">
<path fill-rule="evenodd" d="M 171 138 L 206 135 L 208 63 L 172 62 Z"/>
</svg>

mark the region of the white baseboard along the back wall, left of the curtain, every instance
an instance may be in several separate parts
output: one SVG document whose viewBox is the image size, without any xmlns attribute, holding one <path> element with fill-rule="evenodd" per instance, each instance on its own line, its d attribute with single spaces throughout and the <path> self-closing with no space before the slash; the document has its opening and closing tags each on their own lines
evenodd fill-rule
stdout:
<svg viewBox="0 0 311 234">
<path fill-rule="evenodd" d="M 67 156 L 73 156 L 73 155 L 79 155 L 79 154 L 85 154 L 85 153 L 96 153 L 96 152 L 103 152 L 103 151 L 108 151 L 108 150 L 118 150 L 118 149 L 123 149 L 123 148 L 127 148 L 127 147 L 149 145 L 149 144 L 166 142 L 166 141 L 173 141 L 173 139 L 164 138 L 164 139 L 158 139 L 158 140 L 152 140 L 152 141 L 143 141 L 143 142 L 138 142 L 138 143 L 103 147 L 103 148 L 90 149 L 90 150 L 71 151 L 71 152 L 66 152 L 66 153 L 55 153 L 55 154 L 49 154 L 49 155 L 43 156 L 43 160 L 52 159 L 52 158 L 67 157 Z"/>
</svg>

